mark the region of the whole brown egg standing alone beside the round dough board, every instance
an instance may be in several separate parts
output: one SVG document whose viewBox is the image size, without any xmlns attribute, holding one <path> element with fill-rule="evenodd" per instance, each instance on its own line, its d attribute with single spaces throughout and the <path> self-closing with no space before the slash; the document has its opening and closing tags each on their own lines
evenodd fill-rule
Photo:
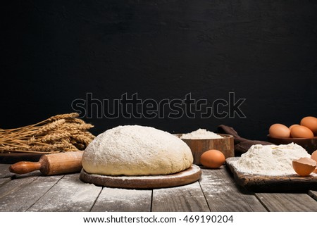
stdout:
<svg viewBox="0 0 317 226">
<path fill-rule="evenodd" d="M 205 151 L 200 156 L 200 163 L 206 168 L 220 168 L 225 163 L 225 155 L 215 149 Z"/>
</svg>

